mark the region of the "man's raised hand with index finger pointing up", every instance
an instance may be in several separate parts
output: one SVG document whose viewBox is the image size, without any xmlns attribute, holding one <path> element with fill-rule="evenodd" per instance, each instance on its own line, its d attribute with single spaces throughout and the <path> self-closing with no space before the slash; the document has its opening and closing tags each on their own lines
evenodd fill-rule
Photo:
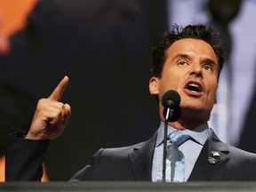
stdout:
<svg viewBox="0 0 256 192">
<path fill-rule="evenodd" d="M 65 76 L 50 97 L 38 101 L 26 139 L 52 140 L 64 131 L 71 115 L 71 108 L 68 104 L 61 103 L 60 99 L 67 85 L 68 76 Z"/>
</svg>

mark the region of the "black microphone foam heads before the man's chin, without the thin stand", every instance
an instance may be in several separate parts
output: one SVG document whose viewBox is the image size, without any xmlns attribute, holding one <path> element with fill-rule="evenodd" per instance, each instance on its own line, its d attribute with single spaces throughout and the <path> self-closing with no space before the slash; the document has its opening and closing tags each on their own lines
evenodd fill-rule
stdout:
<svg viewBox="0 0 256 192">
<path fill-rule="evenodd" d="M 162 105 L 164 106 L 163 114 L 165 116 L 165 120 L 175 122 L 180 118 L 180 94 L 178 92 L 174 90 L 164 92 Z"/>
</svg>

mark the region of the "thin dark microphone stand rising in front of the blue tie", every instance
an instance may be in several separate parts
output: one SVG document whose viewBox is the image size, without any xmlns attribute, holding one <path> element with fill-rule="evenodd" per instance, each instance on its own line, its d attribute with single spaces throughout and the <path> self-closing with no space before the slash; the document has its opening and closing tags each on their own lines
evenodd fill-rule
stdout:
<svg viewBox="0 0 256 192">
<path fill-rule="evenodd" d="M 162 170 L 162 174 L 163 174 L 163 182 L 165 181 L 165 172 L 166 172 L 166 156 L 167 156 L 167 129 L 168 129 L 168 119 L 169 119 L 169 115 L 172 116 L 172 109 L 171 108 L 167 108 L 166 111 L 166 116 L 165 116 L 165 120 L 164 120 L 164 156 L 163 156 L 163 170 Z"/>
</svg>

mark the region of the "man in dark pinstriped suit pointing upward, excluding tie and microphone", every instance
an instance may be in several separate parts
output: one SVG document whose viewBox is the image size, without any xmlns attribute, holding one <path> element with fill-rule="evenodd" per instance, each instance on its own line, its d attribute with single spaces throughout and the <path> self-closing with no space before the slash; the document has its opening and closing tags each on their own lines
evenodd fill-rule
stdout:
<svg viewBox="0 0 256 192">
<path fill-rule="evenodd" d="M 222 143 L 207 124 L 217 102 L 224 61 L 220 41 L 210 27 L 175 26 L 164 33 L 163 42 L 153 52 L 149 80 L 149 92 L 158 103 L 159 129 L 146 142 L 101 148 L 71 180 L 156 181 L 164 140 L 161 100 L 168 90 L 176 90 L 181 98 L 181 116 L 169 123 L 168 133 L 180 130 L 191 137 L 179 146 L 185 156 L 185 180 L 256 180 L 256 155 Z M 9 137 L 6 180 L 41 180 L 49 140 L 64 131 L 71 114 L 70 106 L 60 102 L 67 85 L 65 76 L 49 98 L 38 101 L 30 130 Z"/>
</svg>

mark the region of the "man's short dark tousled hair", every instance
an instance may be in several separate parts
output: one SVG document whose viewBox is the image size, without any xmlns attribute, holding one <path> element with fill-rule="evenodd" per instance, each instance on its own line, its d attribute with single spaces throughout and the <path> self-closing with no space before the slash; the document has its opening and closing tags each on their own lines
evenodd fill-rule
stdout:
<svg viewBox="0 0 256 192">
<path fill-rule="evenodd" d="M 153 63 L 151 68 L 151 76 L 162 77 L 164 62 L 166 60 L 166 51 L 176 41 L 184 38 L 200 39 L 212 46 L 213 51 L 218 58 L 218 79 L 220 71 L 223 68 L 226 54 L 220 43 L 220 36 L 211 26 L 202 24 L 188 25 L 185 28 L 179 27 L 177 24 L 172 27 L 171 32 L 164 32 L 162 42 L 153 50 Z"/>
</svg>

